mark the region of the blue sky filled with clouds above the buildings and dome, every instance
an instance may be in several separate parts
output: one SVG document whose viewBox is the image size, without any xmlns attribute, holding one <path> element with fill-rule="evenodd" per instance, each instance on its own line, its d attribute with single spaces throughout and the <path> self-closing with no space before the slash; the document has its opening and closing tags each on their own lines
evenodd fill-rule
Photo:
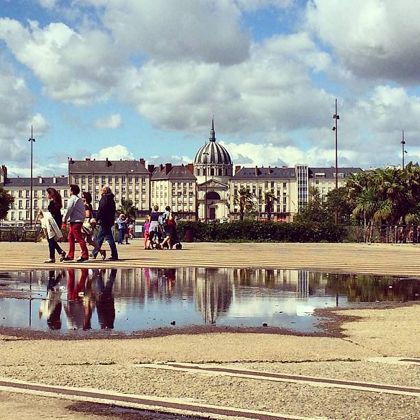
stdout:
<svg viewBox="0 0 420 420">
<path fill-rule="evenodd" d="M 416 17 L 417 16 L 417 17 Z M 369 169 L 420 156 L 418 0 L 0 0 L 0 164 Z"/>
</svg>

